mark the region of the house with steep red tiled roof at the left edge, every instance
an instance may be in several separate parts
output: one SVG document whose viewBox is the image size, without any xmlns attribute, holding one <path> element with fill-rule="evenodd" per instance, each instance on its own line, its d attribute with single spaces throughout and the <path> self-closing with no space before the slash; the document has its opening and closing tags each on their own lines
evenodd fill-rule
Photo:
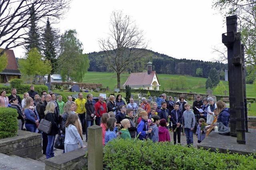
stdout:
<svg viewBox="0 0 256 170">
<path fill-rule="evenodd" d="M 8 63 L 6 68 L 0 72 L 0 83 L 6 83 L 14 78 L 20 78 L 21 76 L 13 50 L 8 49 L 5 53 Z"/>
</svg>

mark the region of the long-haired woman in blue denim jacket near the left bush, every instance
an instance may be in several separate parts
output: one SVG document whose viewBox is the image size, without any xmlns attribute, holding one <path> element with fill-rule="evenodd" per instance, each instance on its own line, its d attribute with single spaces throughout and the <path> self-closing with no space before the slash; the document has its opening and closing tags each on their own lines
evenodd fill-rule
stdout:
<svg viewBox="0 0 256 170">
<path fill-rule="evenodd" d="M 25 127 L 27 131 L 36 132 L 40 119 L 36 109 L 34 108 L 34 100 L 31 97 L 26 98 L 24 113 L 26 115 Z"/>
</svg>

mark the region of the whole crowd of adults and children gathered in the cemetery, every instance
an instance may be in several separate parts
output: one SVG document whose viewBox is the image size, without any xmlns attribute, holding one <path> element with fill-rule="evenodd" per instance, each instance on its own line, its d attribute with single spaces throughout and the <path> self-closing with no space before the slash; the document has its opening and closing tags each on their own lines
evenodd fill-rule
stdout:
<svg viewBox="0 0 256 170">
<path fill-rule="evenodd" d="M 228 127 L 229 109 L 222 101 L 215 102 L 213 98 L 196 96 L 192 109 L 183 96 L 178 101 L 172 96 L 166 99 L 166 94 L 161 94 L 155 103 L 148 103 L 146 98 L 141 98 L 137 104 L 134 99 L 130 102 L 122 99 L 122 95 L 109 96 L 109 102 L 104 102 L 103 96 L 99 96 L 96 102 L 92 94 L 84 98 L 82 93 L 73 102 L 68 96 L 64 103 L 62 96 L 55 96 L 42 92 L 41 96 L 30 87 L 30 91 L 24 93 L 23 99 L 17 95 L 17 90 L 12 89 L 12 94 L 6 96 L 5 91 L 0 92 L 0 107 L 12 107 L 18 112 L 18 129 L 34 133 L 42 133 L 42 151 L 46 158 L 54 156 L 54 141 L 56 135 L 64 137 L 63 152 L 70 152 L 83 145 L 83 135 L 87 128 L 94 125 L 102 127 L 102 145 L 106 145 L 117 137 L 123 139 L 152 140 L 153 142 L 171 141 L 170 131 L 173 131 L 174 144 L 180 143 L 181 133 L 185 133 L 187 145 L 194 143 L 193 133 L 196 133 L 198 143 L 205 137 L 205 129 L 201 129 L 203 123 L 212 124 L 214 117 L 217 122 L 222 122 Z M 38 131 L 40 120 L 52 123 L 50 133 Z"/>
</svg>

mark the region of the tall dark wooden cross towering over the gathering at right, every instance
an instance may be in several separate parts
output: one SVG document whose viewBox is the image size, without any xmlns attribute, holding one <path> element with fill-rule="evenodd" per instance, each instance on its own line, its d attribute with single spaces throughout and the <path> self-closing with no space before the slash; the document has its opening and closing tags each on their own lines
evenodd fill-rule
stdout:
<svg viewBox="0 0 256 170">
<path fill-rule="evenodd" d="M 245 144 L 245 80 L 244 53 L 241 34 L 237 32 L 237 16 L 226 18 L 227 33 L 222 34 L 222 43 L 228 49 L 228 86 L 230 101 L 230 135 L 237 143 Z M 247 115 L 246 115 L 247 117 Z"/>
</svg>

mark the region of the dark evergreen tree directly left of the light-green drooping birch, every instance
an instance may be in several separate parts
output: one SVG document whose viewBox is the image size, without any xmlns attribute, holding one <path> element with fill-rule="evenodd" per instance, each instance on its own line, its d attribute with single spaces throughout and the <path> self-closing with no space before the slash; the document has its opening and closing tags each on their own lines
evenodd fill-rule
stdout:
<svg viewBox="0 0 256 170">
<path fill-rule="evenodd" d="M 44 58 L 50 61 L 52 65 L 52 71 L 48 74 L 47 82 L 51 81 L 51 74 L 54 74 L 57 64 L 57 54 L 56 54 L 56 36 L 54 35 L 54 31 L 50 25 L 49 19 L 47 20 L 46 29 L 43 35 L 43 47 L 42 50 L 44 52 Z"/>
</svg>

